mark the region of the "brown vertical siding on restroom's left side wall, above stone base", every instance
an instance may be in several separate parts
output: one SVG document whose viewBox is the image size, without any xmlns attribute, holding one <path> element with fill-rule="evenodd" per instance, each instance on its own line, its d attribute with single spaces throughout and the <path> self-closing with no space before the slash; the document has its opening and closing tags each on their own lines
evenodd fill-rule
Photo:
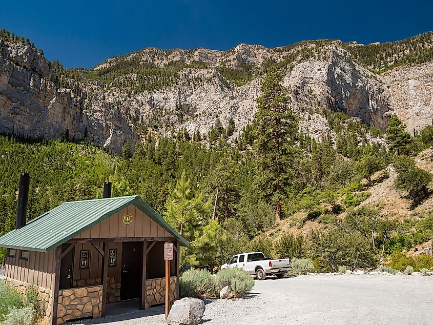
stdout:
<svg viewBox="0 0 433 325">
<path fill-rule="evenodd" d="M 29 259 L 23 260 L 21 251 L 16 250 L 15 257 L 6 257 L 5 277 L 31 283 L 51 289 L 54 274 L 54 252 L 29 252 Z"/>
</svg>

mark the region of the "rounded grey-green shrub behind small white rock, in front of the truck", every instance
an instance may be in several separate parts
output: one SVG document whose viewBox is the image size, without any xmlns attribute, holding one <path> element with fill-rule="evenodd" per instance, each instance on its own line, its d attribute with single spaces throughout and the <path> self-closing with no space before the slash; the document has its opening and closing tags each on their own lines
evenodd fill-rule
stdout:
<svg viewBox="0 0 433 325">
<path fill-rule="evenodd" d="M 234 298 L 241 297 L 245 292 L 254 287 L 253 277 L 244 270 L 238 268 L 223 269 L 219 271 L 215 280 L 218 291 L 229 286 L 233 292 Z"/>
</svg>

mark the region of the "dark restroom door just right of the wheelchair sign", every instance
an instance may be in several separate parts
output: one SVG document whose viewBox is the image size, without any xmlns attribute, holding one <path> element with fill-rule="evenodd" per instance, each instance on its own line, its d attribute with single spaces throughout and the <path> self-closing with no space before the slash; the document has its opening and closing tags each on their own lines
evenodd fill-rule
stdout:
<svg viewBox="0 0 433 325">
<path fill-rule="evenodd" d="M 120 300 L 140 297 L 141 253 L 140 241 L 123 242 Z"/>
</svg>

